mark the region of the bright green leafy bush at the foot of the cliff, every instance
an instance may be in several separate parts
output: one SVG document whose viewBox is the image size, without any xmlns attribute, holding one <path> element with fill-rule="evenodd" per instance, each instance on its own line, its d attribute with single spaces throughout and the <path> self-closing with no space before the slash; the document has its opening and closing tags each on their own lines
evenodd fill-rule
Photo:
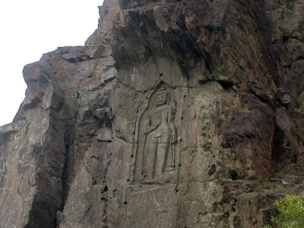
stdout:
<svg viewBox="0 0 304 228">
<path fill-rule="evenodd" d="M 304 228 L 304 194 L 286 195 L 274 201 L 278 216 L 272 217 L 271 221 L 279 228 Z M 263 228 L 271 228 L 264 225 Z"/>
</svg>

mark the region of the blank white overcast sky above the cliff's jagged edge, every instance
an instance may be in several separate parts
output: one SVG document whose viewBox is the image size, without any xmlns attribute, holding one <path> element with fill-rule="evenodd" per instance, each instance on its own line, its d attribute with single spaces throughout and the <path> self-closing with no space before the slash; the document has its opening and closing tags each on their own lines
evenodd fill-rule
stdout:
<svg viewBox="0 0 304 228">
<path fill-rule="evenodd" d="M 0 126 L 24 100 L 22 70 L 57 47 L 84 46 L 98 26 L 103 0 L 11 0 L 0 8 Z"/>
</svg>

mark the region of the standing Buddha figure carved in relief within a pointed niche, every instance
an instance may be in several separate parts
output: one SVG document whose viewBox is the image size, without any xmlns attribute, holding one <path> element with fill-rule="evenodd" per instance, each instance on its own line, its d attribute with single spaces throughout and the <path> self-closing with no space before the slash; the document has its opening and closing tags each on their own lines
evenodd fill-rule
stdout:
<svg viewBox="0 0 304 228">
<path fill-rule="evenodd" d="M 137 179 L 162 179 L 175 169 L 177 130 L 172 88 L 161 87 L 151 94 L 139 124 Z M 138 177 L 140 173 L 140 177 Z M 135 174 L 136 178 L 136 174 Z"/>
</svg>

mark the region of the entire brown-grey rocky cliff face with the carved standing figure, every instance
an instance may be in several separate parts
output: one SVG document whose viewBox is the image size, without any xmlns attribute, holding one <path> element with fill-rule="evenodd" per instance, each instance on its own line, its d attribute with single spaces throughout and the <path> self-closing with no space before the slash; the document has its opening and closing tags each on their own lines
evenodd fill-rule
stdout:
<svg viewBox="0 0 304 228">
<path fill-rule="evenodd" d="M 105 0 L 24 68 L 0 227 L 261 227 L 304 189 L 301 0 Z"/>
</svg>

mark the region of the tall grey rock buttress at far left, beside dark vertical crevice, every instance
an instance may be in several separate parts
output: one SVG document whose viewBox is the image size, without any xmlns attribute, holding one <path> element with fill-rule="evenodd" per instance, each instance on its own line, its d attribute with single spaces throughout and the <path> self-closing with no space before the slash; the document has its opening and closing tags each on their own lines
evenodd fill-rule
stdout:
<svg viewBox="0 0 304 228">
<path fill-rule="evenodd" d="M 25 100 L 15 122 L 0 133 L 0 138 L 6 137 L 0 147 L 0 226 L 54 227 L 62 202 L 64 98 L 38 63 L 27 69 L 24 78 L 30 101 Z"/>
</svg>

